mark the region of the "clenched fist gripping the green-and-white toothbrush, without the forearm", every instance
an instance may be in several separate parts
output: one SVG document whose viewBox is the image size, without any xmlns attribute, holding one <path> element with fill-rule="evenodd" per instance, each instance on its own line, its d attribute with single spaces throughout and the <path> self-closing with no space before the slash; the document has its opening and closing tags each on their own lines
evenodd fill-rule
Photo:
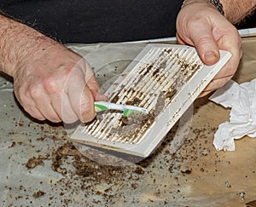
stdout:
<svg viewBox="0 0 256 207">
<path fill-rule="evenodd" d="M 89 122 L 94 101 L 102 100 L 87 62 L 62 45 L 21 62 L 14 75 L 15 95 L 32 117 L 51 122 Z"/>
</svg>

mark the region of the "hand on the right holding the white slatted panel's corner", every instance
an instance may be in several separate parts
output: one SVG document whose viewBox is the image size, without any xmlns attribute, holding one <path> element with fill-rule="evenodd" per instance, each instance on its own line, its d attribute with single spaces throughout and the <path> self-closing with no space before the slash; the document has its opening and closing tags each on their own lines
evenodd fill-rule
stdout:
<svg viewBox="0 0 256 207">
<path fill-rule="evenodd" d="M 177 43 L 195 46 L 201 60 L 212 65 L 219 60 L 218 49 L 230 51 L 232 57 L 218 72 L 200 96 L 207 95 L 227 83 L 241 59 L 241 37 L 212 3 L 188 1 L 177 15 Z"/>
</svg>

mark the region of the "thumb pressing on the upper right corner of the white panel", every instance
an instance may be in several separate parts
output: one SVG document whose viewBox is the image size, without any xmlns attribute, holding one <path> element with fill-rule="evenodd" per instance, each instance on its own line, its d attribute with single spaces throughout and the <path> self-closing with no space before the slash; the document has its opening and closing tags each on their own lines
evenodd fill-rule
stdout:
<svg viewBox="0 0 256 207">
<path fill-rule="evenodd" d="M 218 45 L 212 37 L 212 28 L 211 26 L 197 26 L 197 28 L 191 30 L 191 40 L 203 63 L 211 66 L 219 60 Z"/>
</svg>

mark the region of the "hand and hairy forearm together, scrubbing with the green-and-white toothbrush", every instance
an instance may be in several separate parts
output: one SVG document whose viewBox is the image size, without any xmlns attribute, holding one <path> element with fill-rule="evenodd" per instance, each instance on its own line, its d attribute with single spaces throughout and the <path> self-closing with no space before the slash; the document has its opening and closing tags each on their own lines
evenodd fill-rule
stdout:
<svg viewBox="0 0 256 207">
<path fill-rule="evenodd" d="M 14 78 L 15 95 L 33 118 L 67 124 L 95 115 L 105 100 L 88 63 L 32 28 L 0 15 L 0 70 Z"/>
</svg>

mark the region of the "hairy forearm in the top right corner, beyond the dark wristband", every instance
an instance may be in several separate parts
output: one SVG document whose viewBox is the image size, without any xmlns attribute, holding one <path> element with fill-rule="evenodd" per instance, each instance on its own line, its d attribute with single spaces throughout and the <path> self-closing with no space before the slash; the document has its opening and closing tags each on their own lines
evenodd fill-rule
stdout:
<svg viewBox="0 0 256 207">
<path fill-rule="evenodd" d="M 220 0 L 223 4 L 225 17 L 236 24 L 256 9 L 256 0 Z"/>
</svg>

